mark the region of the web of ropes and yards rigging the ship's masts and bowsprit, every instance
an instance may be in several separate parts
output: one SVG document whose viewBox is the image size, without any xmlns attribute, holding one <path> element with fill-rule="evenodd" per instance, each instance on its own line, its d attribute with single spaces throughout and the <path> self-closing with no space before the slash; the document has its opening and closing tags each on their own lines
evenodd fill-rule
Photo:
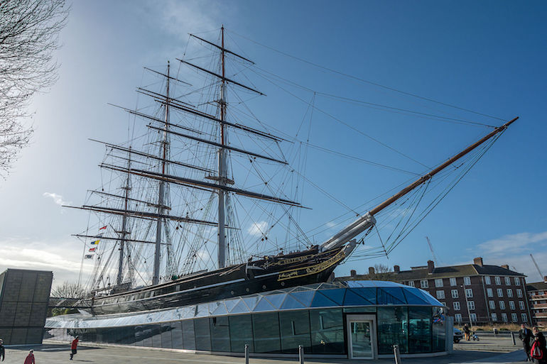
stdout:
<svg viewBox="0 0 547 364">
<path fill-rule="evenodd" d="M 325 224 L 315 231 L 304 231 L 298 224 L 300 211 L 304 207 L 300 201 L 305 184 L 320 189 L 327 197 L 347 208 L 347 214 L 335 220 L 337 226 L 353 221 L 356 214 L 362 216 L 325 241 L 322 250 L 338 247 L 354 236 L 366 234 L 374 224 L 380 230 L 395 224 L 381 247 L 357 250 L 352 259 L 388 254 L 507 128 L 494 129 L 495 133 L 482 140 L 487 143 L 477 144 L 475 146 L 480 148 L 469 150 L 472 153 L 462 155 L 464 158 L 461 160 L 457 158 L 459 165 L 445 169 L 454 160 L 441 164 L 368 214 L 365 208 L 380 201 L 382 196 L 357 207 L 340 202 L 335 194 L 321 189 L 316 182 L 305 177 L 303 170 L 307 165 L 308 148 L 411 175 L 422 173 L 311 143 L 309 131 L 313 112 L 345 123 L 318 106 L 316 97 L 342 99 L 396 112 L 413 111 L 313 90 L 313 98 L 306 101 L 288 89 L 301 88 L 300 85 L 254 67 L 254 62 L 249 58 L 224 48 L 224 28 L 220 31 L 219 44 L 197 35 L 191 37 L 215 50 L 215 57 L 205 58 L 209 60 L 205 65 L 197 65 L 197 58 L 182 57 L 177 60 L 180 67 L 185 67 L 185 74 L 195 72 L 192 77 L 201 77 L 205 87 L 197 88 L 197 92 L 190 90 L 195 82 L 180 79 L 180 72 L 173 75 L 170 63 L 165 70 L 145 67 L 146 72 L 160 79 L 161 83 L 137 89 L 141 96 L 151 101 L 145 107 L 121 107 L 131 116 L 133 135 L 121 145 L 101 142 L 107 154 L 99 166 L 108 180 L 101 189 L 90 192 L 89 199 L 94 199 L 94 202 L 85 203 L 81 209 L 97 214 L 98 225 L 106 223 L 108 228 L 106 232 L 99 233 L 89 226 L 86 231 L 75 234 L 85 243 L 100 240 L 93 260 L 94 270 L 88 282 L 90 289 L 112 289 L 115 292 L 116 288 L 157 285 L 173 277 L 244 263 L 253 257 L 310 248 L 315 243 L 313 236 L 323 233 L 320 229 L 325 228 Z M 239 60 L 241 66 L 229 75 L 228 56 Z M 243 78 L 240 73 L 247 69 L 307 104 L 303 118 L 303 121 L 309 120 L 305 140 L 269 126 L 245 106 L 246 98 L 264 96 L 254 84 L 239 81 Z M 229 103 L 228 92 L 234 100 L 233 107 Z M 428 113 L 417 114 L 435 117 Z M 241 122 L 249 118 L 256 120 L 259 128 Z M 474 126 L 481 124 L 449 116 L 440 116 L 440 119 Z M 303 123 L 298 127 L 297 136 Z M 352 128 L 421 167 L 427 167 L 368 133 Z M 137 133 L 136 136 L 134 133 Z M 281 143 L 292 144 L 295 148 L 290 153 L 283 152 Z M 433 180 L 434 175 L 437 176 Z M 244 219 L 240 219 L 237 211 L 244 211 Z M 377 216 L 380 211 L 382 214 Z M 254 217 L 256 215 L 260 217 Z M 286 236 L 277 234 L 276 238 L 272 238 L 272 231 L 278 228 L 284 230 Z M 247 236 L 247 241 L 244 236 Z"/>
</svg>

